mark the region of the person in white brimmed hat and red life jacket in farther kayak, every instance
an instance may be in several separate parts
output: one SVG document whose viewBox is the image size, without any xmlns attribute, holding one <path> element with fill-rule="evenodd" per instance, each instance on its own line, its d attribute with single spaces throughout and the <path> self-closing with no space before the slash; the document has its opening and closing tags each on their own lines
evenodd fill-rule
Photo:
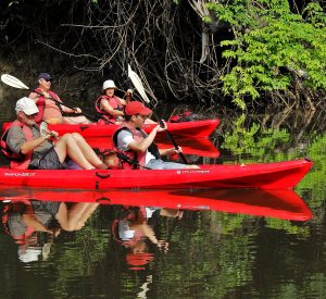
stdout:
<svg viewBox="0 0 326 299">
<path fill-rule="evenodd" d="M 96 110 L 109 122 L 120 124 L 124 120 L 124 107 L 131 100 L 133 90 L 128 89 L 125 99 L 122 99 L 114 95 L 116 89 L 113 80 L 105 80 L 102 87 L 103 95 L 96 101 Z"/>
</svg>

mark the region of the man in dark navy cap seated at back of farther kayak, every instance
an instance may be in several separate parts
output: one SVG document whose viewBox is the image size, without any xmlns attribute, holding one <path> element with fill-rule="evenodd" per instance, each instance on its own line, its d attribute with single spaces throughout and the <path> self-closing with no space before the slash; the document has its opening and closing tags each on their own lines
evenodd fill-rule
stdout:
<svg viewBox="0 0 326 299">
<path fill-rule="evenodd" d="M 28 98 L 33 99 L 39 110 L 38 115 L 35 121 L 37 124 L 41 123 L 41 121 L 46 121 L 48 124 L 89 124 L 91 123 L 85 116 L 63 116 L 62 113 L 80 113 L 82 110 L 76 108 L 76 110 L 70 109 L 63 104 L 59 104 L 58 102 L 51 100 L 54 99 L 59 102 L 62 100 L 59 96 L 50 90 L 52 85 L 52 76 L 49 73 L 40 73 L 38 75 L 38 87 L 35 91 L 42 94 L 40 96 L 36 92 L 30 92 Z"/>
</svg>

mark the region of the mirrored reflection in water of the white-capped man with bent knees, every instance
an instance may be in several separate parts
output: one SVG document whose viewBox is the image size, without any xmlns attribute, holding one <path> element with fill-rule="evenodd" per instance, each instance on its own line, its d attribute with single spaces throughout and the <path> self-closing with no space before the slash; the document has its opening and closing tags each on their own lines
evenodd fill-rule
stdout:
<svg viewBox="0 0 326 299">
<path fill-rule="evenodd" d="M 99 203 L 25 200 L 7 203 L 2 211 L 5 232 L 18 247 L 18 258 L 28 263 L 46 260 L 61 231 L 78 231 Z"/>
</svg>

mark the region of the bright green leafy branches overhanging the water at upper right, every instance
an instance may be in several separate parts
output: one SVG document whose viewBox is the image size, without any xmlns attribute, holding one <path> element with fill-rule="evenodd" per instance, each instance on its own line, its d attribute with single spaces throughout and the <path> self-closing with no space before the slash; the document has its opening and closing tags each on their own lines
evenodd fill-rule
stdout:
<svg viewBox="0 0 326 299">
<path fill-rule="evenodd" d="M 241 109 L 244 97 L 289 89 L 298 76 L 305 87 L 326 89 L 326 14 L 319 4 L 305 8 L 305 20 L 281 0 L 237 0 L 208 8 L 233 29 L 234 39 L 221 42 L 227 48 L 223 57 L 234 61 L 222 77 L 223 91 Z"/>
</svg>

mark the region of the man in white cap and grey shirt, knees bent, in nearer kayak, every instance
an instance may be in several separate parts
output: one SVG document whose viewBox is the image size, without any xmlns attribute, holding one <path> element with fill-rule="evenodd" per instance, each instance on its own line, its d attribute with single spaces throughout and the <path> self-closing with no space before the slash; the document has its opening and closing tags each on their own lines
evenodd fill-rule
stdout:
<svg viewBox="0 0 326 299">
<path fill-rule="evenodd" d="M 17 119 L 2 136 L 2 140 L 7 136 L 5 148 L 17 158 L 11 161 L 11 167 L 64 169 L 64 161 L 68 157 L 85 170 L 108 169 L 77 133 L 58 138 L 58 133 L 51 130 L 41 136 L 39 127 L 35 124 L 38 108 L 32 99 L 20 99 L 15 110 Z"/>
</svg>

